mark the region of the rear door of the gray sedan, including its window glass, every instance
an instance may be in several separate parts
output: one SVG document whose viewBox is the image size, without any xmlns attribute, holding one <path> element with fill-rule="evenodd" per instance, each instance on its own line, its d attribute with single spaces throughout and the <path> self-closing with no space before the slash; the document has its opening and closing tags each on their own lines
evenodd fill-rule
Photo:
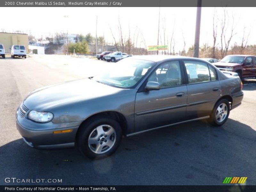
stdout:
<svg viewBox="0 0 256 192">
<path fill-rule="evenodd" d="M 195 60 L 183 60 L 188 88 L 186 118 L 196 119 L 209 116 L 220 98 L 220 83 L 216 69 Z"/>
</svg>

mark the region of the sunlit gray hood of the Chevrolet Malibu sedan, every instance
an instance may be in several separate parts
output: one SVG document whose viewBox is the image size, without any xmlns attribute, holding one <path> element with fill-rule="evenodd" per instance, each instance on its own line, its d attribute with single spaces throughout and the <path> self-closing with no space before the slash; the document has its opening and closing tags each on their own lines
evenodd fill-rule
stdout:
<svg viewBox="0 0 256 192">
<path fill-rule="evenodd" d="M 24 100 L 24 105 L 28 109 L 43 111 L 61 105 L 113 95 L 122 90 L 86 78 L 36 89 Z"/>
</svg>

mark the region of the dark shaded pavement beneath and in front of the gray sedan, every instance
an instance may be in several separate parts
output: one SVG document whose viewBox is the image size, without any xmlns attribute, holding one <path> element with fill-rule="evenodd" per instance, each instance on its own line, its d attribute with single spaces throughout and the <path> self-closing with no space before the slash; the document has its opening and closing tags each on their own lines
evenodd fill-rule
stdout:
<svg viewBox="0 0 256 192">
<path fill-rule="evenodd" d="M 62 179 L 62 185 L 222 185 L 225 177 L 256 183 L 256 131 L 228 119 L 195 121 L 123 138 L 110 157 L 92 161 L 77 149 L 37 150 L 22 139 L 0 147 L 4 178 Z M 8 183 L 8 185 L 42 183 Z"/>
</svg>

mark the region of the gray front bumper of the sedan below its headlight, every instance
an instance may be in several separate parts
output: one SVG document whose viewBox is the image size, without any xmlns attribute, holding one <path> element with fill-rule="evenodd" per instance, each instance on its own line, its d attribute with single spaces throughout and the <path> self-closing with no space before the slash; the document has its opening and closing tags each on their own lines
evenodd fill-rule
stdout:
<svg viewBox="0 0 256 192">
<path fill-rule="evenodd" d="M 19 116 L 19 110 L 16 115 L 16 126 L 23 140 L 30 146 L 39 149 L 57 149 L 73 147 L 76 139 L 76 132 L 80 122 L 54 124 L 36 123 L 25 117 Z M 71 126 L 76 125 L 76 126 Z M 57 133 L 54 131 L 61 131 L 72 129 L 72 132 Z"/>
</svg>

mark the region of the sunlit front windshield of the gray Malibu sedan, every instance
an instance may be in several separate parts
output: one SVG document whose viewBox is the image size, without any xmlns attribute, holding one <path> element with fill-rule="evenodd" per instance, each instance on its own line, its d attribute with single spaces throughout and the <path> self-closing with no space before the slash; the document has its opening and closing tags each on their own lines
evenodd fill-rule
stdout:
<svg viewBox="0 0 256 192">
<path fill-rule="evenodd" d="M 131 88 L 137 84 L 155 62 L 137 59 L 120 60 L 92 80 L 119 88 Z"/>
</svg>

